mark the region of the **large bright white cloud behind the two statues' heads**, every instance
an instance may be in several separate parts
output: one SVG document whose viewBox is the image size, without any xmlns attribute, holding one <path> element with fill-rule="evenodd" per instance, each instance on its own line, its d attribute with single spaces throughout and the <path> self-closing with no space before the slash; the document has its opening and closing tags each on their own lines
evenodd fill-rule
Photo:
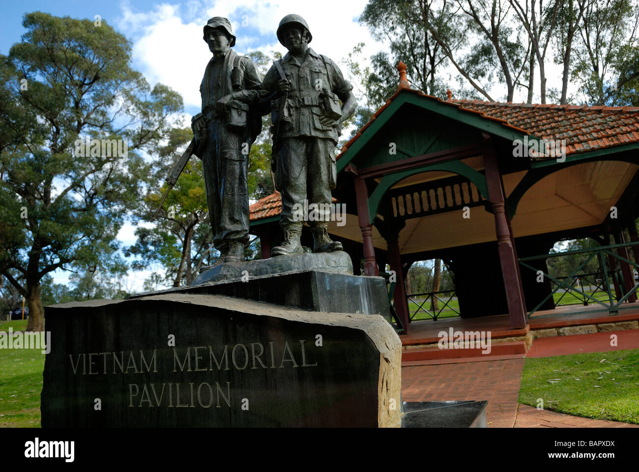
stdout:
<svg viewBox="0 0 639 472">
<path fill-rule="evenodd" d="M 327 0 L 318 8 L 317 3 L 295 0 L 219 0 L 208 6 L 190 1 L 156 4 L 149 12 L 134 12 L 128 3 L 122 3 L 118 29 L 132 40 L 134 68 L 151 86 L 166 84 L 182 95 L 187 109 L 199 109 L 199 84 L 211 54 L 202 39 L 202 28 L 210 17 L 229 17 L 237 36 L 234 49 L 240 54 L 254 49 L 285 53 L 275 32 L 284 15 L 297 13 L 309 24 L 311 47 L 339 62 L 359 42 L 366 42 L 366 52 L 371 54 L 382 47 L 357 23 L 366 3 Z"/>
</svg>

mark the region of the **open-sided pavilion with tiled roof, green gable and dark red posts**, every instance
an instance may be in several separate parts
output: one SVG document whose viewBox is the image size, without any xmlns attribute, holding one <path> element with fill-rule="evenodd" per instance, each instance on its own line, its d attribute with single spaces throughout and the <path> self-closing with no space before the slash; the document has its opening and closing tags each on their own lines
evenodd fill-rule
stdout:
<svg viewBox="0 0 639 472">
<path fill-rule="evenodd" d="M 343 242 L 355 274 L 360 260 L 367 276 L 387 264 L 395 271 L 404 333 L 404 278 L 413 262 L 448 265 L 462 318 L 507 314 L 512 329 L 524 329 L 535 306 L 555 307 L 551 281 L 539 283 L 520 261 L 545 274 L 546 259 L 530 259 L 566 239 L 593 237 L 606 246 L 614 237 L 619 247 L 610 251 L 617 252 L 601 262 L 615 268 L 617 260 L 617 301 L 635 302 L 627 249 L 636 242 L 639 255 L 639 107 L 454 100 L 450 93 L 442 100 L 412 90 L 406 66 L 397 68 L 396 93 L 337 156 L 333 196 L 347 216 L 329 232 Z M 280 210 L 279 193 L 250 207 L 263 257 L 281 237 Z M 302 243 L 312 245 L 310 232 Z"/>
</svg>

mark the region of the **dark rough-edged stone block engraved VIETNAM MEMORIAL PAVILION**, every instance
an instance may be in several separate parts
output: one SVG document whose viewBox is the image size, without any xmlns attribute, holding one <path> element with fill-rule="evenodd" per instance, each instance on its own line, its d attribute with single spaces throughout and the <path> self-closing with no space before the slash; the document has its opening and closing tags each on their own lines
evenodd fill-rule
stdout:
<svg viewBox="0 0 639 472">
<path fill-rule="evenodd" d="M 379 315 L 166 293 L 47 307 L 43 427 L 399 427 Z"/>
</svg>

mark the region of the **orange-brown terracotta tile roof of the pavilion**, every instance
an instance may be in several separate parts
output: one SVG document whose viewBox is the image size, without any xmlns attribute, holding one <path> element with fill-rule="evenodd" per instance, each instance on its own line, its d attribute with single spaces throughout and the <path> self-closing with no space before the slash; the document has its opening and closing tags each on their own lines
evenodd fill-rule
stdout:
<svg viewBox="0 0 639 472">
<path fill-rule="evenodd" d="M 448 106 L 500 123 L 542 139 L 566 139 L 566 154 L 639 143 L 639 107 L 604 107 L 555 104 L 516 104 L 481 100 L 442 100 L 422 91 L 400 88 L 376 111 L 362 129 L 344 145 L 337 159 L 380 116 L 399 93 L 416 93 Z M 281 212 L 279 192 L 250 206 L 250 221 L 277 216 Z"/>
</svg>

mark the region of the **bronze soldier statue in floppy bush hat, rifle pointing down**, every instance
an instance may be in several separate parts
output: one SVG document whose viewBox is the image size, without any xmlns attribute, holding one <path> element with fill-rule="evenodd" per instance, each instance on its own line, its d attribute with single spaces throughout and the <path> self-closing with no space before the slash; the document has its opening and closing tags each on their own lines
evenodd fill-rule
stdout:
<svg viewBox="0 0 639 472">
<path fill-rule="evenodd" d="M 249 242 L 247 167 L 262 127 L 261 113 L 252 106 L 261 79 L 253 61 L 230 49 L 235 36 L 229 20 L 208 20 L 204 41 L 213 57 L 200 85 L 202 112 L 193 117 L 192 127 L 194 153 L 203 161 L 213 245 L 220 251 L 215 266 L 244 260 Z"/>
</svg>

